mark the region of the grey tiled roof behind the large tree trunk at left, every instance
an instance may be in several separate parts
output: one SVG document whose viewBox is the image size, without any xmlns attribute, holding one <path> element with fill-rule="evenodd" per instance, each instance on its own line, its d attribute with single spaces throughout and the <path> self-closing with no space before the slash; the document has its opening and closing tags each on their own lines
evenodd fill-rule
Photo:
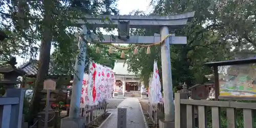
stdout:
<svg viewBox="0 0 256 128">
<path fill-rule="evenodd" d="M 68 69 L 69 68 L 69 69 Z M 68 68 L 62 68 L 57 66 L 57 63 L 50 61 L 49 63 L 49 75 L 73 75 L 75 68 L 75 61 L 72 61 Z M 38 72 L 38 61 L 30 60 L 25 65 L 20 66 L 18 69 L 21 69 L 26 72 L 27 75 L 36 75 Z M 88 62 L 86 62 L 85 72 L 88 71 Z"/>
</svg>

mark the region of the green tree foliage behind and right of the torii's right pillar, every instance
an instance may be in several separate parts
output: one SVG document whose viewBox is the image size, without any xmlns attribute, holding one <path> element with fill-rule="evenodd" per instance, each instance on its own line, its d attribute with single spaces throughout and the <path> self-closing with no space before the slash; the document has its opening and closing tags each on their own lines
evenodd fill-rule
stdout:
<svg viewBox="0 0 256 128">
<path fill-rule="evenodd" d="M 232 56 L 237 51 L 254 51 L 253 41 L 248 37 L 255 35 L 255 22 L 252 19 L 255 2 L 244 2 L 242 4 L 237 1 L 210 0 L 152 1 L 153 14 L 170 15 L 195 11 L 194 19 L 186 27 L 174 32 L 176 36 L 187 36 L 187 45 L 170 47 L 174 86 L 178 86 L 180 82 L 186 82 L 188 86 L 192 86 L 207 81 L 204 75 L 211 74 L 212 70 L 203 66 L 205 62 L 233 59 Z M 237 22 L 232 22 L 234 20 Z M 131 32 L 134 35 L 153 35 L 159 33 L 159 30 Z M 230 51 L 230 47 L 233 50 Z M 140 50 L 140 56 L 130 55 L 129 69 L 135 73 L 141 73 L 142 79 L 147 79 L 148 74 L 153 71 L 152 61 L 156 59 L 161 65 L 160 48 L 151 48 L 150 55 L 145 54 L 144 49 Z M 160 66 L 159 70 L 161 70 Z"/>
</svg>

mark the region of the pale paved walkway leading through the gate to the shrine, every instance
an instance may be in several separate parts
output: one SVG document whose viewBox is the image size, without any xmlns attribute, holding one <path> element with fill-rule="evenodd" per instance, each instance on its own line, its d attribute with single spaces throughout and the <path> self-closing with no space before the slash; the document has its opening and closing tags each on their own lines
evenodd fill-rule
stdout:
<svg viewBox="0 0 256 128">
<path fill-rule="evenodd" d="M 118 105 L 118 108 L 127 108 L 126 128 L 145 127 L 138 98 L 126 98 Z M 117 128 L 117 109 L 110 109 L 108 112 L 112 113 L 112 116 L 102 125 L 101 128 Z"/>
</svg>

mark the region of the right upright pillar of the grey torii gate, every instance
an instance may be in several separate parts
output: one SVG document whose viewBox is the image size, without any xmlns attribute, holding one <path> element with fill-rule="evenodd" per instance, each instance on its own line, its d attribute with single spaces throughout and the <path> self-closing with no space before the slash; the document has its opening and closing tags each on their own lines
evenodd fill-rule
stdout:
<svg viewBox="0 0 256 128">
<path fill-rule="evenodd" d="M 163 26 L 160 30 L 160 34 L 161 39 L 164 39 L 169 34 L 168 27 Z M 164 43 L 161 45 L 161 61 L 163 80 L 164 119 L 165 121 L 174 121 L 174 99 L 169 39 L 165 39 Z"/>
</svg>

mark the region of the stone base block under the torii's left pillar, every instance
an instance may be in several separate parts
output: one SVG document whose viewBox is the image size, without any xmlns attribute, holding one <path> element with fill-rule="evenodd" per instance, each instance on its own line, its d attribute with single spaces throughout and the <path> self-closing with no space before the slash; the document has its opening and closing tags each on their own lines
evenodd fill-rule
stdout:
<svg viewBox="0 0 256 128">
<path fill-rule="evenodd" d="M 84 117 L 78 117 L 75 119 L 65 117 L 60 121 L 60 128 L 84 128 L 86 125 L 86 119 Z"/>
</svg>

